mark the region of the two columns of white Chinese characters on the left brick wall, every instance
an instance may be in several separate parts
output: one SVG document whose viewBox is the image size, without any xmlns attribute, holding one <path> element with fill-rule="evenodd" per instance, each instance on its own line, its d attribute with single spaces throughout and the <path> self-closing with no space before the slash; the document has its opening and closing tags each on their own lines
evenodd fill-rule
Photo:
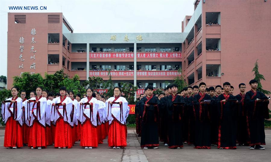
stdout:
<svg viewBox="0 0 271 162">
<path fill-rule="evenodd" d="M 27 42 L 29 42 L 31 44 L 31 48 L 30 48 L 30 54 L 31 54 L 31 56 L 30 56 L 30 59 L 32 60 L 34 58 L 34 60 L 35 60 L 35 53 L 37 52 L 37 50 L 34 47 L 34 43 L 36 43 L 34 36 L 36 35 L 36 29 L 32 28 L 30 34 L 32 35 L 32 39 L 31 40 L 24 40 L 24 37 L 20 37 L 19 38 L 19 43 L 20 43 L 20 48 L 19 48 L 19 50 L 20 50 L 20 54 L 19 54 L 19 62 L 20 62 L 19 63 L 19 69 L 23 69 L 24 68 L 24 64 L 23 63 L 21 64 L 21 62 L 24 62 L 24 60 L 25 60 L 24 59 L 24 43 L 25 43 L 25 41 L 27 41 Z M 33 56 L 32 56 L 32 54 L 33 54 Z M 31 63 L 30 69 L 36 70 L 36 63 L 35 62 Z M 21 72 L 20 75 L 22 73 L 23 72 Z M 34 73 L 35 73 L 34 71 L 30 72 L 30 74 L 34 74 Z"/>
</svg>

